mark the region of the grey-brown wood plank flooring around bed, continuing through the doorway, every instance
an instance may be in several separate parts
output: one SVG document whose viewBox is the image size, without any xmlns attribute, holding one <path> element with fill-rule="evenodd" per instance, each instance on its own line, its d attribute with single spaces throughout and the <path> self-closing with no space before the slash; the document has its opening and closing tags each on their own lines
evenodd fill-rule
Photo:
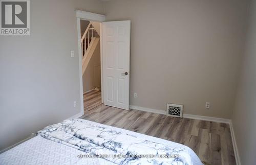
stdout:
<svg viewBox="0 0 256 165">
<path fill-rule="evenodd" d="M 100 91 L 84 95 L 82 118 L 184 144 L 207 165 L 236 164 L 228 124 L 105 106 Z"/>
</svg>

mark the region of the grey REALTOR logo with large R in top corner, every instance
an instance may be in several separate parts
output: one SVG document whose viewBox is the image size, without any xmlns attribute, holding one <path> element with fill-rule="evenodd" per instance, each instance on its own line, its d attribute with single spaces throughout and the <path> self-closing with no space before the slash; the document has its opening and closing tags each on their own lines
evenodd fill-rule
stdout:
<svg viewBox="0 0 256 165">
<path fill-rule="evenodd" d="M 0 2 L 0 35 L 30 35 L 29 0 Z"/>
</svg>

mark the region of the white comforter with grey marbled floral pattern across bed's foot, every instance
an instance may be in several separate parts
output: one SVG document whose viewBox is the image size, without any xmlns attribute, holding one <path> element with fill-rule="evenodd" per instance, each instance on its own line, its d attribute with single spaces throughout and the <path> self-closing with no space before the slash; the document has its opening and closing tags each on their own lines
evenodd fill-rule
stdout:
<svg viewBox="0 0 256 165">
<path fill-rule="evenodd" d="M 135 135 L 70 119 L 50 125 L 37 134 L 116 164 L 193 164 L 188 151 L 141 139 Z M 88 156 L 86 156 L 88 157 Z"/>
</svg>

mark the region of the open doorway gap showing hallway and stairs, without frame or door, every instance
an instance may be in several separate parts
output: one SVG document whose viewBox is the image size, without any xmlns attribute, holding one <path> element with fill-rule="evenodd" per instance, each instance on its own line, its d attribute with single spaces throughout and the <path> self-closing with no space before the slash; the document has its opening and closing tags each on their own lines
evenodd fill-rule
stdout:
<svg viewBox="0 0 256 165">
<path fill-rule="evenodd" d="M 101 105 L 100 22 L 80 20 L 84 113 Z"/>
</svg>

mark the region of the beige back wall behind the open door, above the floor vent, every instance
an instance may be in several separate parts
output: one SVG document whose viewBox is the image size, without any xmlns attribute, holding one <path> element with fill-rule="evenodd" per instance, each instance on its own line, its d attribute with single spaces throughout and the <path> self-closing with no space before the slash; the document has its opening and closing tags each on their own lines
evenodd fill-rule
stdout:
<svg viewBox="0 0 256 165">
<path fill-rule="evenodd" d="M 230 119 L 246 6 L 240 0 L 104 2 L 108 21 L 132 22 L 130 104 L 165 110 L 178 103 L 186 114 Z"/>
</svg>

